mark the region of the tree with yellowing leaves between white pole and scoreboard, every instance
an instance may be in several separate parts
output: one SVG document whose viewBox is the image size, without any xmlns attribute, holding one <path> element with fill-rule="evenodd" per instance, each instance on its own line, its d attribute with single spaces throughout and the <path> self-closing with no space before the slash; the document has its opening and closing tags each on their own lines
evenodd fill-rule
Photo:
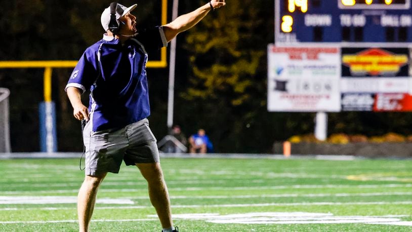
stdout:
<svg viewBox="0 0 412 232">
<path fill-rule="evenodd" d="M 259 122 L 260 115 L 277 117 L 266 110 L 266 48 L 273 42 L 273 22 L 267 1 L 230 1 L 187 32 L 191 72 L 177 107 L 195 115 L 178 118 L 193 132 L 206 129 L 218 151 L 262 152 L 262 143 L 270 147 L 274 140 L 273 129 L 262 131 Z"/>
</svg>

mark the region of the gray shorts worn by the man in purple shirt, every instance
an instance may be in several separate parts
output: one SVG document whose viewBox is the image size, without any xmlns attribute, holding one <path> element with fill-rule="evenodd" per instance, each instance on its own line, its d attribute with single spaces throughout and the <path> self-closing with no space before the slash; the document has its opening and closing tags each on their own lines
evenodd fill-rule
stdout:
<svg viewBox="0 0 412 232">
<path fill-rule="evenodd" d="M 126 165 L 160 162 L 156 138 L 150 131 L 147 119 L 116 130 L 94 132 L 90 125 L 89 121 L 83 131 L 86 175 L 118 173 L 121 161 L 125 161 Z"/>
</svg>

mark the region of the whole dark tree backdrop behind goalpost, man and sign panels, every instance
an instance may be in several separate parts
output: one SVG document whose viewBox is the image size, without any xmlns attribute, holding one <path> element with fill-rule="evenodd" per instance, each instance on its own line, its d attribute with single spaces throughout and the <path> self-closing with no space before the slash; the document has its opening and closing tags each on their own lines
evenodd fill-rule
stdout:
<svg viewBox="0 0 412 232">
<path fill-rule="evenodd" d="M 218 152 L 271 152 L 272 143 L 312 133 L 314 113 L 267 112 L 267 45 L 274 41 L 273 1 L 226 0 L 197 26 L 178 35 L 175 123 L 186 135 L 203 128 Z M 169 21 L 172 1 L 169 2 Z M 0 0 L 2 60 L 77 60 L 100 40 L 105 1 Z M 160 0 L 137 3 L 140 27 L 160 22 Z M 181 0 L 179 13 L 205 4 Z M 156 55 L 150 55 L 156 59 Z M 151 128 L 168 133 L 168 68 L 149 69 Z M 71 69 L 53 70 L 53 100 L 59 151 L 80 151 L 80 125 L 64 92 Z M 38 103 L 43 101 L 43 70 L 0 69 L 0 87 L 11 89 L 14 151 L 38 151 Z M 88 102 L 85 94 L 84 102 Z M 329 113 L 328 133 L 382 135 L 411 133 L 411 113 Z M 23 139 L 24 138 L 24 139 Z"/>
</svg>

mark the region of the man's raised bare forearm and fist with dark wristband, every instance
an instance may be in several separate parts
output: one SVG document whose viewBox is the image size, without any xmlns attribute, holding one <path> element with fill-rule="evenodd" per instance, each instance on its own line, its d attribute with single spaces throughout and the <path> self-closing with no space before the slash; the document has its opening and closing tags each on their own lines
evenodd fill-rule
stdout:
<svg viewBox="0 0 412 232">
<path fill-rule="evenodd" d="M 196 25 L 209 11 L 225 6 L 225 0 L 212 0 L 209 3 L 197 8 L 196 10 L 181 15 L 173 20 L 171 23 L 163 25 L 164 35 L 166 40 L 170 42 L 182 31 L 185 31 Z"/>
</svg>

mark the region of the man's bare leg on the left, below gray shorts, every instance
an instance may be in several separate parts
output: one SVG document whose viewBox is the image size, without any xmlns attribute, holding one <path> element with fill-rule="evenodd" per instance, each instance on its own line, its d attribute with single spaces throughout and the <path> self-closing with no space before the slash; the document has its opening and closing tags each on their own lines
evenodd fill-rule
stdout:
<svg viewBox="0 0 412 232">
<path fill-rule="evenodd" d="M 97 190 L 107 173 L 86 176 L 77 196 L 78 226 L 80 232 L 89 231 L 89 223 L 95 208 Z"/>
</svg>

